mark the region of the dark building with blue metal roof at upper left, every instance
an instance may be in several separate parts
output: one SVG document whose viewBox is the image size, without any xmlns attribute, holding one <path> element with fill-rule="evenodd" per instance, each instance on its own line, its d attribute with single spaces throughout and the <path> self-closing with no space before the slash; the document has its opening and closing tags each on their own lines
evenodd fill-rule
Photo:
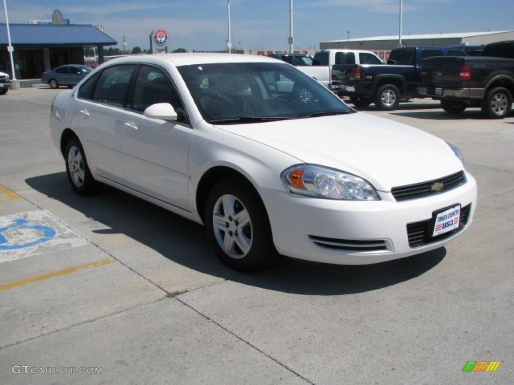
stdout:
<svg viewBox="0 0 514 385">
<path fill-rule="evenodd" d="M 44 71 L 63 64 L 84 64 L 84 48 L 96 47 L 103 62 L 103 47 L 117 42 L 93 25 L 69 24 L 60 11 L 51 21 L 9 24 L 17 79 L 40 78 Z M 0 71 L 11 73 L 6 24 L 0 24 Z"/>
</svg>

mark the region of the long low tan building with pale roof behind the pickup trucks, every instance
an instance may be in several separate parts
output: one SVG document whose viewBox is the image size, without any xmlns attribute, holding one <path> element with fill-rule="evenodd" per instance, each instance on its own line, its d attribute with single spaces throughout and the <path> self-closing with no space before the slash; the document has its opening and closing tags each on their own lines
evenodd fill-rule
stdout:
<svg viewBox="0 0 514 385">
<path fill-rule="evenodd" d="M 403 35 L 403 45 L 448 47 L 456 45 L 480 46 L 503 40 L 514 40 L 514 31 L 433 33 L 424 35 Z M 391 51 L 398 47 L 398 35 L 359 37 L 321 42 L 320 49 L 364 49 L 369 51 Z"/>
</svg>

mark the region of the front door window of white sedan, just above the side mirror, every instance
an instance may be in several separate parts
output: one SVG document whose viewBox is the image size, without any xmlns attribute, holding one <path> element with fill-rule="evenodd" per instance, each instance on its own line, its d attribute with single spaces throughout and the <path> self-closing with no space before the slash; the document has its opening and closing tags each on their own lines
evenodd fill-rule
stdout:
<svg viewBox="0 0 514 385">
<path fill-rule="evenodd" d="M 170 103 L 175 110 L 184 108 L 168 75 L 160 68 L 143 65 L 137 74 L 130 108 L 143 112 L 156 103 Z"/>
</svg>

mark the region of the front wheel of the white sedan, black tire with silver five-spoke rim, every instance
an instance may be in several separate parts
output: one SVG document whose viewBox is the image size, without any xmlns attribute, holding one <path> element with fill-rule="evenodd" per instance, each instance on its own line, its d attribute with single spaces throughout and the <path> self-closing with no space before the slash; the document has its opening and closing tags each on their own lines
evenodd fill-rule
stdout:
<svg viewBox="0 0 514 385">
<path fill-rule="evenodd" d="M 230 208 L 225 209 L 223 198 L 227 197 L 231 203 L 228 204 Z M 234 200 L 230 200 L 230 197 Z M 237 222 L 237 216 L 245 209 L 249 225 L 242 227 L 242 224 Z M 215 228 L 215 215 L 218 217 L 218 223 L 224 227 Z M 258 271 L 269 265 L 277 254 L 264 203 L 258 192 L 246 180 L 226 178 L 214 185 L 207 197 L 205 224 L 217 256 L 233 269 L 245 272 Z M 226 226 L 227 224 L 229 226 Z M 222 247 L 224 242 L 227 242 L 229 253 Z M 238 246 L 241 242 L 245 242 L 247 252 Z"/>
</svg>

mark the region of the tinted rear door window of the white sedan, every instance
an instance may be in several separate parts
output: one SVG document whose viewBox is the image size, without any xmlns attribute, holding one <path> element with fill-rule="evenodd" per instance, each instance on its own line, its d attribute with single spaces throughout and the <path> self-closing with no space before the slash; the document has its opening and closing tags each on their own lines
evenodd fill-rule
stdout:
<svg viewBox="0 0 514 385">
<path fill-rule="evenodd" d="M 123 64 L 106 68 L 102 71 L 95 87 L 93 99 L 97 102 L 123 107 L 135 64 Z"/>
</svg>

